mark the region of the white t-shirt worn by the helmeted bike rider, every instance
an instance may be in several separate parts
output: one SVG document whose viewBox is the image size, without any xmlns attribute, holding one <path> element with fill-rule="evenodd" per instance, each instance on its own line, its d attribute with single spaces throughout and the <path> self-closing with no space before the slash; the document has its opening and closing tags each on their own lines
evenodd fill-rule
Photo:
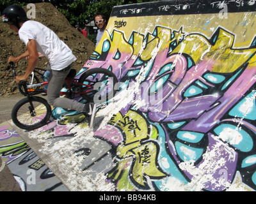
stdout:
<svg viewBox="0 0 256 204">
<path fill-rule="evenodd" d="M 29 40 L 35 40 L 37 51 L 49 60 L 53 70 L 64 69 L 76 61 L 72 50 L 51 29 L 40 22 L 34 20 L 24 22 L 19 29 L 19 37 L 26 46 Z"/>
</svg>

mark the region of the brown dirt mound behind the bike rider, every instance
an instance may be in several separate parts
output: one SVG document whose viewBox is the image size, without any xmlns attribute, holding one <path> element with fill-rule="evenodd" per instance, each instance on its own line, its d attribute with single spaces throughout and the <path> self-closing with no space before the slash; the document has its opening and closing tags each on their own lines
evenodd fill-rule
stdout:
<svg viewBox="0 0 256 204">
<path fill-rule="evenodd" d="M 41 22 L 52 29 L 72 49 L 77 57 L 73 68 L 79 71 L 95 49 L 94 43 L 72 27 L 67 18 L 51 3 L 37 3 L 35 6 L 36 18 L 31 20 Z M 26 6 L 24 9 L 28 11 Z M 9 25 L 0 22 L 0 96 L 19 92 L 17 84 L 13 82 L 13 73 L 11 70 L 6 71 L 6 66 L 10 55 L 17 57 L 25 51 L 26 46 L 20 41 L 19 35 L 13 32 Z M 27 63 L 26 59 L 23 59 L 16 65 L 18 75 L 24 73 Z M 45 68 L 45 64 L 47 60 L 40 59 L 37 66 Z"/>
</svg>

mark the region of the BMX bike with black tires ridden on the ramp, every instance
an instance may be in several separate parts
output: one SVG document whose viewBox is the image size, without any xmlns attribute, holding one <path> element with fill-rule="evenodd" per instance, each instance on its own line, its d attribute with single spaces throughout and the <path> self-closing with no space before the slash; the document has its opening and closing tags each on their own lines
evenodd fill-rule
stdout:
<svg viewBox="0 0 256 204">
<path fill-rule="evenodd" d="M 13 75 L 16 77 L 13 62 L 10 62 Z M 76 76 L 76 69 L 70 69 L 70 73 L 65 78 L 65 91 L 61 90 L 60 95 L 70 99 L 83 98 L 87 102 L 93 101 L 95 96 L 98 99 L 104 98 L 109 101 L 115 95 L 115 84 L 118 82 L 115 74 L 108 69 L 93 68 L 84 71 L 79 78 Z M 19 86 L 26 95 L 13 107 L 12 120 L 13 123 L 26 130 L 34 130 L 45 126 L 51 118 L 52 109 L 47 100 L 34 96 L 45 92 L 44 89 L 38 89 L 48 82 L 38 84 L 28 84 L 28 82 L 20 81 Z"/>
</svg>

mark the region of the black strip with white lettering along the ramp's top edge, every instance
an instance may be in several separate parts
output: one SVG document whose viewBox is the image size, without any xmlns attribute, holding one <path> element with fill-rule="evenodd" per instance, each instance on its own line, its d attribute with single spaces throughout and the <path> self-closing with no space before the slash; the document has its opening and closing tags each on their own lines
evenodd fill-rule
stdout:
<svg viewBox="0 0 256 204">
<path fill-rule="evenodd" d="M 230 13 L 256 11 L 252 0 L 172 0 L 114 6 L 111 17 L 143 17 L 157 15 L 189 15 L 199 13 Z"/>
</svg>

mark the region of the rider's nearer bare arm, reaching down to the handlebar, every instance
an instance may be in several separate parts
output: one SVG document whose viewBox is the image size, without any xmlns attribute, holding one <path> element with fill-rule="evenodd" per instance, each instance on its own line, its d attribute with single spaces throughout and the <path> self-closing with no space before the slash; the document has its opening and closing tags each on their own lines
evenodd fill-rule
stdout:
<svg viewBox="0 0 256 204">
<path fill-rule="evenodd" d="M 35 40 L 29 40 L 27 44 L 28 48 L 28 68 L 26 69 L 26 72 L 22 76 L 16 77 L 16 82 L 19 83 L 20 80 L 27 80 L 31 72 L 35 69 L 36 64 L 38 62 L 39 56 L 36 49 L 36 41 Z"/>
</svg>

